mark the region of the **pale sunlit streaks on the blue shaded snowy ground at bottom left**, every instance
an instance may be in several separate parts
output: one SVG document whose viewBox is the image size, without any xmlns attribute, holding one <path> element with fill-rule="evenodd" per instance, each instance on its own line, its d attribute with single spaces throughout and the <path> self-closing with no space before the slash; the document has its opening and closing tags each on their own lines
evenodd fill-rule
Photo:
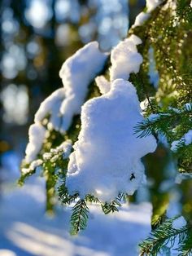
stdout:
<svg viewBox="0 0 192 256">
<path fill-rule="evenodd" d="M 33 255 L 63 256 L 64 253 L 64 255 L 71 256 L 75 255 L 76 252 L 83 256 L 95 255 L 94 249 L 75 245 L 72 241 L 52 235 L 48 232 L 42 232 L 25 223 L 15 223 L 12 230 L 7 232 L 7 236 L 15 245 Z M 97 256 L 98 255 L 107 256 L 109 254 L 97 251 Z"/>
</svg>

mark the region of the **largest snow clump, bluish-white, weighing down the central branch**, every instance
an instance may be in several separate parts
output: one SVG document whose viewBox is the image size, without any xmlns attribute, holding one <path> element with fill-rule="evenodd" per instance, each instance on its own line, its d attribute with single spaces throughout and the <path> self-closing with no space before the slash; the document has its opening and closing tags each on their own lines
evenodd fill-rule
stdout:
<svg viewBox="0 0 192 256">
<path fill-rule="evenodd" d="M 92 194 L 100 201 L 111 201 L 119 192 L 132 195 L 143 179 L 141 158 L 156 148 L 152 135 L 133 135 L 142 120 L 136 89 L 123 79 L 112 82 L 107 94 L 89 99 L 69 157 L 68 192 L 79 192 L 81 198 Z"/>
</svg>

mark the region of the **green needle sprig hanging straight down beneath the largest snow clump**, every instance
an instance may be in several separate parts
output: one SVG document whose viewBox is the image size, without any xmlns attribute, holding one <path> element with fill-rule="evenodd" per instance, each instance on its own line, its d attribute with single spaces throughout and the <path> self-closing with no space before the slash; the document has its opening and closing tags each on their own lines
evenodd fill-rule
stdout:
<svg viewBox="0 0 192 256">
<path fill-rule="evenodd" d="M 84 200 L 79 200 L 76 205 L 72 207 L 71 216 L 71 234 L 76 235 L 80 230 L 84 230 L 87 225 L 89 215 L 89 208 Z"/>
</svg>

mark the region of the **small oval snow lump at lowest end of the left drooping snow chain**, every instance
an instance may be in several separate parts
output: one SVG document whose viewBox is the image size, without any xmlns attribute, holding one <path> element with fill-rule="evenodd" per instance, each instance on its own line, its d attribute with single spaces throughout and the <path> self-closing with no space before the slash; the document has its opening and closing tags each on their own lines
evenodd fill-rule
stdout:
<svg viewBox="0 0 192 256">
<path fill-rule="evenodd" d="M 46 135 L 46 129 L 43 126 L 41 126 L 41 124 L 33 124 L 32 126 L 29 127 L 29 130 L 28 130 L 29 142 L 25 151 L 26 163 L 30 163 L 31 161 L 36 159 L 37 154 L 41 150 L 41 146 L 45 139 L 45 135 Z"/>
</svg>

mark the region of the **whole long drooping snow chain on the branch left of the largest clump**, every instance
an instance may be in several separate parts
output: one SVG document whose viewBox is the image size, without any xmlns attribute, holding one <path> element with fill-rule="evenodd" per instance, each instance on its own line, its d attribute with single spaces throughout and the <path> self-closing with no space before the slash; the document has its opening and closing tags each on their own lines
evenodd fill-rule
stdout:
<svg viewBox="0 0 192 256">
<path fill-rule="evenodd" d="M 45 139 L 46 129 L 41 121 L 50 116 L 48 129 L 62 133 L 68 130 L 72 117 L 81 113 L 89 83 L 101 71 L 106 60 L 107 54 L 99 51 L 98 42 L 89 42 L 64 62 L 59 72 L 63 88 L 55 90 L 41 103 L 34 118 L 35 124 L 29 128 L 25 157 L 27 163 L 36 159 Z"/>
</svg>

